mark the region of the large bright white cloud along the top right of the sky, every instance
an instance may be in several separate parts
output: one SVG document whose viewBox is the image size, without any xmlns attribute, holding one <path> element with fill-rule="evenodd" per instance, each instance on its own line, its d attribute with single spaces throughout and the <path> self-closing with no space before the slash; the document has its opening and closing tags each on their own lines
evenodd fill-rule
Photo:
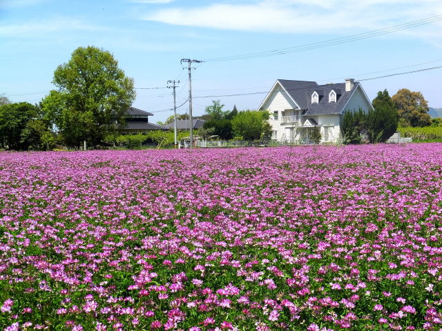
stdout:
<svg viewBox="0 0 442 331">
<path fill-rule="evenodd" d="M 436 14 L 442 14 L 440 0 L 260 0 L 165 8 L 143 19 L 222 30 L 352 34 Z"/>
</svg>

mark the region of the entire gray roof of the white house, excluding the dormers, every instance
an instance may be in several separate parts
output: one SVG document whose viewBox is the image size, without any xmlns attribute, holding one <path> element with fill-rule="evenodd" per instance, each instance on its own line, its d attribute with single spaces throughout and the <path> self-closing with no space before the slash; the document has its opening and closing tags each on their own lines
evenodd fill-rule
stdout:
<svg viewBox="0 0 442 331">
<path fill-rule="evenodd" d="M 298 103 L 302 110 L 307 110 L 303 115 L 340 114 L 347 101 L 352 96 L 359 83 L 354 82 L 353 89 L 345 92 L 345 83 L 318 85 L 314 81 L 288 81 L 278 79 L 287 93 Z M 329 102 L 329 93 L 336 92 L 336 102 Z M 319 95 L 318 103 L 311 103 L 311 94 L 316 91 Z"/>
</svg>

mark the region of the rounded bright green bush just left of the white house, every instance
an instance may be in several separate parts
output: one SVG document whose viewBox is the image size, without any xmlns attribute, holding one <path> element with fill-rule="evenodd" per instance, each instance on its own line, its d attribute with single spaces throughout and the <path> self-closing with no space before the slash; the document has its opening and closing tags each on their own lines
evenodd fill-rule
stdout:
<svg viewBox="0 0 442 331">
<path fill-rule="evenodd" d="M 244 140 L 258 140 L 262 134 L 269 134 L 270 126 L 266 125 L 267 119 L 269 119 L 267 111 L 244 110 L 239 112 L 232 120 L 233 134 L 242 136 Z"/>
</svg>

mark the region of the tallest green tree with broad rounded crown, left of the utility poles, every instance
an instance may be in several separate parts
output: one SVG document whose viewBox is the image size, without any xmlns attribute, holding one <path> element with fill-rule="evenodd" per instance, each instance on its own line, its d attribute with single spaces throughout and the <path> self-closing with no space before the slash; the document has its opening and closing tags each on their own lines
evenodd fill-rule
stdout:
<svg viewBox="0 0 442 331">
<path fill-rule="evenodd" d="M 124 126 L 135 99 L 133 79 L 118 68 L 111 52 L 93 46 L 77 48 L 70 61 L 55 70 L 52 83 L 57 90 L 41 105 L 68 146 L 83 140 L 92 146 L 101 143 Z"/>
</svg>

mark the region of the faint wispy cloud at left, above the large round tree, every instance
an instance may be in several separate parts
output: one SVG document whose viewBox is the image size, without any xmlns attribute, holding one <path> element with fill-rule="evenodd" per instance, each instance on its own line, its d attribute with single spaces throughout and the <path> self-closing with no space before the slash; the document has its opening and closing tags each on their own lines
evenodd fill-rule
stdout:
<svg viewBox="0 0 442 331">
<path fill-rule="evenodd" d="M 102 26 L 95 26 L 77 19 L 68 17 L 57 17 L 50 20 L 26 21 L 9 25 L 0 25 L 0 36 L 5 37 L 32 37 L 35 35 L 44 36 L 55 32 L 66 32 L 69 30 L 99 31 L 108 30 Z"/>
</svg>

